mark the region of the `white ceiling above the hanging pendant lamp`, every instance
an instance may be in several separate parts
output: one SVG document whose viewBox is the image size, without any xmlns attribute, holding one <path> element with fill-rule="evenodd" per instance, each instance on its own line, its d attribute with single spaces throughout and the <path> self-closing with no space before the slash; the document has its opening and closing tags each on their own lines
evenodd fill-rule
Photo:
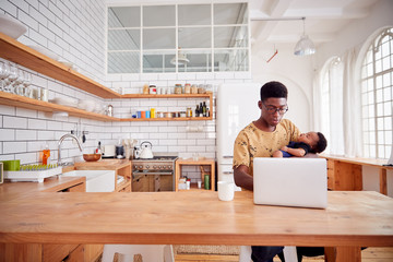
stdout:
<svg viewBox="0 0 393 262">
<path fill-rule="evenodd" d="M 369 15 L 378 0 L 250 0 L 251 43 L 297 43 L 306 34 L 318 46 L 331 41 L 346 24 Z M 286 20 L 289 21 L 275 21 Z M 273 20 L 273 21 L 266 21 Z"/>
</svg>

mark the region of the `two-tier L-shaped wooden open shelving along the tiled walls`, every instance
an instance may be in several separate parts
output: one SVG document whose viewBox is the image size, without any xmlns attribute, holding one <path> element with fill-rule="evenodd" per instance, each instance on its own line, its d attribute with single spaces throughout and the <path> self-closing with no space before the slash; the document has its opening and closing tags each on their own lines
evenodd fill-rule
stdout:
<svg viewBox="0 0 393 262">
<path fill-rule="evenodd" d="M 120 95 L 117 92 L 86 78 L 85 75 L 66 67 L 64 64 L 23 45 L 22 43 L 0 33 L 0 57 L 32 69 L 38 73 L 70 84 L 87 93 L 103 98 L 209 98 L 210 117 L 200 118 L 115 118 L 102 114 L 90 112 L 79 108 L 61 106 L 52 103 L 41 102 L 20 95 L 0 92 L 0 104 L 15 107 L 23 107 L 39 111 L 66 111 L 70 116 L 95 119 L 99 121 L 187 121 L 187 120 L 211 120 L 213 94 L 170 94 L 170 95 L 142 95 L 127 94 Z"/>
</svg>

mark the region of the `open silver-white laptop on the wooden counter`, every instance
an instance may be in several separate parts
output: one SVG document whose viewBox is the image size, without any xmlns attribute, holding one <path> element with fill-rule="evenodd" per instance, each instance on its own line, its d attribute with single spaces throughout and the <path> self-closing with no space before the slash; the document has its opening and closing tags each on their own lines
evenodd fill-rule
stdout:
<svg viewBox="0 0 393 262">
<path fill-rule="evenodd" d="M 254 204 L 325 209 L 326 172 L 324 158 L 255 157 Z"/>
</svg>

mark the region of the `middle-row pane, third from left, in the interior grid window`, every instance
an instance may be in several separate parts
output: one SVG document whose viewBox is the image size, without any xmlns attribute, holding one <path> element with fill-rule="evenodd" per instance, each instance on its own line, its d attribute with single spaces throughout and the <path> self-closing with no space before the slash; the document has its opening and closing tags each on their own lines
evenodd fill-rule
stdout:
<svg viewBox="0 0 393 262">
<path fill-rule="evenodd" d="M 179 28 L 179 47 L 211 48 L 212 28 L 211 27 Z"/>
</svg>

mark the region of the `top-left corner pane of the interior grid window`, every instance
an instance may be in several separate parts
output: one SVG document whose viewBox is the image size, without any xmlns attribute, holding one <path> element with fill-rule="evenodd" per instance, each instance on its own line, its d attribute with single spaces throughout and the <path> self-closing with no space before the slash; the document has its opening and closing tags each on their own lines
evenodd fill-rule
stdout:
<svg viewBox="0 0 393 262">
<path fill-rule="evenodd" d="M 108 26 L 140 27 L 141 8 L 140 7 L 108 8 Z"/>
</svg>

